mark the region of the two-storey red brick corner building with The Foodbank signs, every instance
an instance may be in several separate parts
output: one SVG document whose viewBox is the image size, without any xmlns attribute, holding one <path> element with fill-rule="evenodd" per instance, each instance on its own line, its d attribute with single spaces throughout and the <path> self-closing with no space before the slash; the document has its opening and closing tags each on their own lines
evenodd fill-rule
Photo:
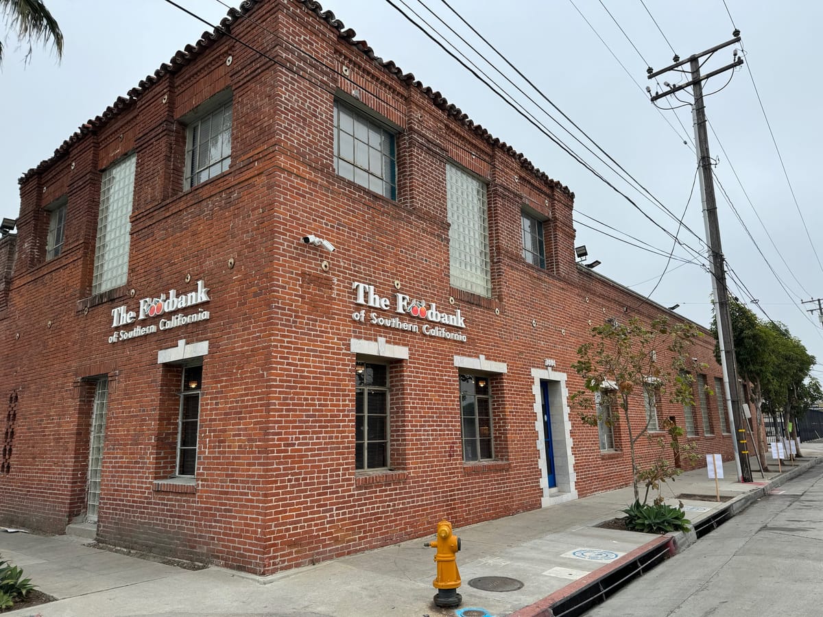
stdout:
<svg viewBox="0 0 823 617">
<path fill-rule="evenodd" d="M 570 364 L 667 311 L 575 261 L 574 194 L 316 2 L 243 6 L 21 179 L 0 522 L 272 573 L 629 484 Z M 728 459 L 700 392 L 654 422 Z"/>
</svg>

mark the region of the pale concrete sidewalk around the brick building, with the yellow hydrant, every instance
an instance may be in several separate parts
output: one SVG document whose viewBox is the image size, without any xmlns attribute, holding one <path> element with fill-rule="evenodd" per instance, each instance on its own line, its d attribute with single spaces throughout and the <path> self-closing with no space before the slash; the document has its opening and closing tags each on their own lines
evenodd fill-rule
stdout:
<svg viewBox="0 0 823 617">
<path fill-rule="evenodd" d="M 734 499 L 683 499 L 686 516 L 700 527 L 701 521 L 724 512 L 733 515 L 823 462 L 823 443 L 805 443 L 802 451 L 805 458 L 795 466 L 783 466 L 782 473 L 772 471 L 765 479 L 752 460 L 755 482 L 747 485 L 734 480 L 734 463 L 726 463 L 720 494 Z M 770 466 L 777 468 L 776 463 Z M 714 480 L 700 469 L 686 472 L 664 489 L 672 505 L 677 505 L 674 494 L 712 499 Z M 90 540 L 73 536 L 0 531 L 0 559 L 21 566 L 40 591 L 58 598 L 5 615 L 547 617 L 552 606 L 558 610 L 559 603 L 581 589 L 610 580 L 617 568 L 636 564 L 644 555 L 662 559 L 668 550 L 681 550 L 695 541 L 694 531 L 653 536 L 596 527 L 622 516 L 621 509 L 633 500 L 628 487 L 456 529 L 463 544 L 458 553 L 463 604 L 457 610 L 439 609 L 432 601 L 434 550 L 423 549 L 423 540 L 430 537 L 260 578 L 224 568 L 189 571 L 93 549 L 84 546 Z M 478 577 L 514 578 L 523 587 L 502 592 L 469 586 Z"/>
</svg>

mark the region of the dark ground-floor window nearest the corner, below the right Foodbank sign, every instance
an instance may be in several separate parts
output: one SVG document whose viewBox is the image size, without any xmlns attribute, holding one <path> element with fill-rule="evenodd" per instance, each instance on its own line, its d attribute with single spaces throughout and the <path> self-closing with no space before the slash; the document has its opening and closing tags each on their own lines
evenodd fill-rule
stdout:
<svg viewBox="0 0 823 617">
<path fill-rule="evenodd" d="M 355 369 L 355 469 L 388 467 L 388 365 Z"/>
</svg>

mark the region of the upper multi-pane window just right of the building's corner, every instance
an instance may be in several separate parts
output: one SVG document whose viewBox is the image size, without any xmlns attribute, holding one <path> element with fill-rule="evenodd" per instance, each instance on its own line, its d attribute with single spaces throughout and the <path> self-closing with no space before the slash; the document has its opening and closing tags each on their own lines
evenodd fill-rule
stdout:
<svg viewBox="0 0 823 617">
<path fill-rule="evenodd" d="M 334 169 L 343 178 L 394 199 L 394 134 L 364 114 L 335 102 Z"/>
</svg>

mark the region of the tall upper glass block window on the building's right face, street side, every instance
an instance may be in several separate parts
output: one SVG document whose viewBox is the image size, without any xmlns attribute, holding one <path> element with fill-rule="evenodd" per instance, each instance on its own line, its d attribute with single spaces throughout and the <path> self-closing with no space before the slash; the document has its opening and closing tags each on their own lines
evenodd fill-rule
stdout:
<svg viewBox="0 0 823 617">
<path fill-rule="evenodd" d="M 486 184 L 446 165 L 449 209 L 449 272 L 453 287 L 491 296 Z"/>
</svg>

